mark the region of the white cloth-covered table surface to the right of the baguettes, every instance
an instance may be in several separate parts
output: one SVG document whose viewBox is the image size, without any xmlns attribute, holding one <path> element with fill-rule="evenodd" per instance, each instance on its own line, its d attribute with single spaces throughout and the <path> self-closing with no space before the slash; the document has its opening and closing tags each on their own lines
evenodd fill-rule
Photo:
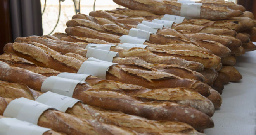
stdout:
<svg viewBox="0 0 256 135">
<path fill-rule="evenodd" d="M 237 56 L 235 68 L 243 79 L 224 86 L 223 103 L 212 117 L 215 127 L 205 130 L 207 135 L 256 135 L 256 51 Z"/>
</svg>

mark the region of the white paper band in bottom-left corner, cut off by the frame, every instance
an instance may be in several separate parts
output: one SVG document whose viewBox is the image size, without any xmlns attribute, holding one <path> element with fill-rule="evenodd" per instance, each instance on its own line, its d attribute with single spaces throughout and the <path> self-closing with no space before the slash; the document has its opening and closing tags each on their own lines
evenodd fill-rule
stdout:
<svg viewBox="0 0 256 135">
<path fill-rule="evenodd" d="M 16 118 L 1 118 L 0 129 L 0 135 L 43 135 L 51 130 Z"/>
</svg>

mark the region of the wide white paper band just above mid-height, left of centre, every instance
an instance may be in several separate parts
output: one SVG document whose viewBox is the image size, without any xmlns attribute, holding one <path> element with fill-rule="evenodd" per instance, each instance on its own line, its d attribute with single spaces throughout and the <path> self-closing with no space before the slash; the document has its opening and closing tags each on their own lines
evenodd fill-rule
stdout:
<svg viewBox="0 0 256 135">
<path fill-rule="evenodd" d="M 101 50 L 96 48 L 88 48 L 86 53 L 86 58 L 94 57 L 96 59 L 100 59 L 108 62 L 112 62 L 115 56 L 119 57 L 118 52 Z"/>
</svg>

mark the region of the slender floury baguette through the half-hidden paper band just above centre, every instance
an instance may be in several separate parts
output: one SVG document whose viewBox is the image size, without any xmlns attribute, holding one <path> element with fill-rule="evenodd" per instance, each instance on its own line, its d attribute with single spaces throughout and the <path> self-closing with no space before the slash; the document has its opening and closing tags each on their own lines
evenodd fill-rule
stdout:
<svg viewBox="0 0 256 135">
<path fill-rule="evenodd" d="M 64 43 L 65 45 L 56 44 L 56 43 L 51 44 L 51 40 L 42 39 L 42 37 L 27 37 L 27 38 L 17 37 L 15 41 L 16 42 L 22 42 L 22 41 L 40 42 L 58 52 L 62 52 L 62 53 L 73 52 L 73 53 L 80 54 L 81 56 L 84 56 L 84 57 L 86 57 L 86 53 L 87 53 L 87 50 L 84 49 L 87 46 L 86 43 L 80 44 L 80 46 L 75 46 L 75 44 L 72 44 L 71 42 L 65 42 L 65 41 L 62 41 L 62 43 Z M 195 71 L 201 71 L 204 68 L 204 66 L 198 62 L 186 61 L 184 59 L 173 57 L 173 56 L 158 56 L 142 48 L 133 48 L 128 51 L 117 46 L 114 46 L 111 48 L 112 49 L 110 51 L 119 52 L 120 57 L 140 57 L 141 59 L 144 59 L 146 62 L 149 62 L 149 63 L 178 64 L 180 66 L 184 66 L 186 68 L 189 68 Z"/>
</svg>

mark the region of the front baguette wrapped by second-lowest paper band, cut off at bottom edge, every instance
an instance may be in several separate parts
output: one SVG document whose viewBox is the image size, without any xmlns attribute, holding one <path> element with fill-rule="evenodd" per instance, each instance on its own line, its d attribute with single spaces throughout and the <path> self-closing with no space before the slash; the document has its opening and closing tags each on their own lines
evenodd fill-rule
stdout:
<svg viewBox="0 0 256 135">
<path fill-rule="evenodd" d="M 10 98 L 0 97 L 0 115 L 3 115 L 7 105 L 12 101 Z M 108 125 L 97 120 L 85 120 L 74 115 L 48 109 L 38 118 L 38 126 L 51 128 L 57 132 L 68 135 L 139 135 L 138 133 L 114 125 Z M 83 128 L 81 128 L 83 126 Z"/>
</svg>

